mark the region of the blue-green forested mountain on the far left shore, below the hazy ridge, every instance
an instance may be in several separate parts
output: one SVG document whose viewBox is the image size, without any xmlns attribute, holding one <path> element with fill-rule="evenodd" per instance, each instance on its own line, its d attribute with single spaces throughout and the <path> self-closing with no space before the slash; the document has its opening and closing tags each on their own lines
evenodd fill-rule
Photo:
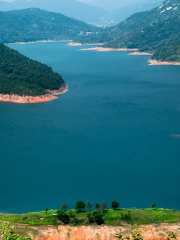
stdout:
<svg viewBox="0 0 180 240">
<path fill-rule="evenodd" d="M 74 39 L 97 28 L 60 13 L 40 9 L 0 12 L 0 42 Z"/>
</svg>

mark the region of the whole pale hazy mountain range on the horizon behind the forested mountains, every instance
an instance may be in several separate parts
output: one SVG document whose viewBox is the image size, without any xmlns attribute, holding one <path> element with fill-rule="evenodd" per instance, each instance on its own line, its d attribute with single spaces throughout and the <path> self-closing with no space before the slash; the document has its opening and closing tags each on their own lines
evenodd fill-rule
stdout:
<svg viewBox="0 0 180 240">
<path fill-rule="evenodd" d="M 57 12 L 86 23 L 110 26 L 125 20 L 131 14 L 150 10 L 163 0 L 95 0 L 89 4 L 76 0 L 15 0 L 0 1 L 0 11 L 40 8 Z"/>
</svg>

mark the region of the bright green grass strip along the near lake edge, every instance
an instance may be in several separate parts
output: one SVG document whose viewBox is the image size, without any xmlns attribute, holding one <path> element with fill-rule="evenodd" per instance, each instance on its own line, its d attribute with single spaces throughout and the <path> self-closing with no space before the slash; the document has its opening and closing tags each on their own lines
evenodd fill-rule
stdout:
<svg viewBox="0 0 180 240">
<path fill-rule="evenodd" d="M 42 212 L 30 212 L 26 214 L 0 214 L 0 221 L 13 222 L 20 224 L 29 224 L 32 226 L 40 225 L 64 225 L 56 217 L 57 210 L 48 210 Z M 96 225 L 89 223 L 87 214 L 93 211 L 77 212 L 76 210 L 67 210 L 70 216 L 69 225 Z M 111 226 L 121 226 L 128 224 L 149 224 L 149 223 L 177 223 L 180 222 L 180 212 L 163 208 L 146 209 L 106 209 L 103 212 L 104 224 Z"/>
</svg>

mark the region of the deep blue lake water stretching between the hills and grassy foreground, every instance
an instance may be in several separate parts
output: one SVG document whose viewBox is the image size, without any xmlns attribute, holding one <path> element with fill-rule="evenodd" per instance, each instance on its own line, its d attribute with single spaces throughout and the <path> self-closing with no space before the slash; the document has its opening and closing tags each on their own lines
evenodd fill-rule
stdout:
<svg viewBox="0 0 180 240">
<path fill-rule="evenodd" d="M 180 134 L 180 66 L 66 44 L 11 45 L 61 73 L 69 91 L 0 103 L 0 211 L 115 199 L 180 209 L 180 138 L 171 136 Z"/>
</svg>

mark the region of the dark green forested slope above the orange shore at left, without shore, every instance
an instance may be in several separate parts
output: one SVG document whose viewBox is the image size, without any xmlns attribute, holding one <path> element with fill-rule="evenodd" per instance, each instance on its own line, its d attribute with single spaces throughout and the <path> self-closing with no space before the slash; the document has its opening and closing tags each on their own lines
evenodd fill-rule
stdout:
<svg viewBox="0 0 180 240">
<path fill-rule="evenodd" d="M 0 94 L 37 96 L 64 84 L 62 76 L 0 43 Z"/>
</svg>

